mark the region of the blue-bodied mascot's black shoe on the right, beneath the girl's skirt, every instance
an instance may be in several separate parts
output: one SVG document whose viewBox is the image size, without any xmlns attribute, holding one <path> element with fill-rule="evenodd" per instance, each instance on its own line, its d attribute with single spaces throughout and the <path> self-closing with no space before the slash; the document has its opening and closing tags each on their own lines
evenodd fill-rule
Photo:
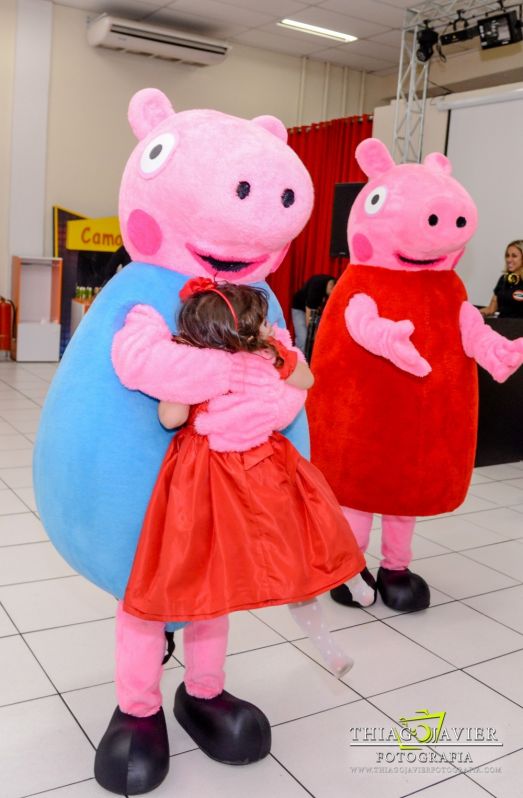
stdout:
<svg viewBox="0 0 523 798">
<path fill-rule="evenodd" d="M 174 716 L 204 754 L 226 765 L 248 765 L 271 750 L 271 727 L 258 707 L 223 690 L 215 698 L 195 698 L 182 682 Z"/>
</svg>

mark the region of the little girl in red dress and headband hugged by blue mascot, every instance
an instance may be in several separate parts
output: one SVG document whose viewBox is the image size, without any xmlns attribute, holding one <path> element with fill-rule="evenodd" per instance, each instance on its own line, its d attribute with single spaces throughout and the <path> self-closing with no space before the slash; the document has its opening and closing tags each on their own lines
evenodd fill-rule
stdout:
<svg viewBox="0 0 523 798">
<path fill-rule="evenodd" d="M 190 280 L 174 341 L 269 358 L 281 379 L 311 387 L 308 366 L 275 337 L 264 291 Z M 260 386 L 263 391 L 263 386 Z M 213 451 L 193 407 L 160 402 L 173 437 L 145 516 L 124 610 L 150 621 L 217 619 L 290 604 L 293 617 L 338 676 L 352 660 L 336 645 L 315 596 L 349 580 L 372 603 L 365 561 L 322 474 L 279 432 L 244 452 Z M 187 423 L 186 423 L 187 422 Z"/>
</svg>

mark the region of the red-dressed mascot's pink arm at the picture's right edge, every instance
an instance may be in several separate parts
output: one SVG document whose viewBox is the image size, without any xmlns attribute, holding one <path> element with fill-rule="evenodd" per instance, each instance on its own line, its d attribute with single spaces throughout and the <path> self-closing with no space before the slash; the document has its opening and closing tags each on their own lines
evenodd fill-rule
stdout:
<svg viewBox="0 0 523 798">
<path fill-rule="evenodd" d="M 461 306 L 459 326 L 465 354 L 474 358 L 496 382 L 505 382 L 523 363 L 523 338 L 509 341 L 495 332 L 470 302 Z"/>
</svg>

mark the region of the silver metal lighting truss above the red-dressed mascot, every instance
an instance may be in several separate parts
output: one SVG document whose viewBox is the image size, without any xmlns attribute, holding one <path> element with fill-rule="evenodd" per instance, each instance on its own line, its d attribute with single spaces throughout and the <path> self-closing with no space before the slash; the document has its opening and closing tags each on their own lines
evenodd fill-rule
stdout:
<svg viewBox="0 0 523 798">
<path fill-rule="evenodd" d="M 474 24 L 478 17 L 514 8 L 500 0 L 444 0 L 419 3 L 405 12 L 401 40 L 401 56 L 394 114 L 392 154 L 397 162 L 419 163 L 423 148 L 423 128 L 431 59 L 419 61 L 418 33 L 428 24 L 441 34 L 458 18 Z"/>
</svg>

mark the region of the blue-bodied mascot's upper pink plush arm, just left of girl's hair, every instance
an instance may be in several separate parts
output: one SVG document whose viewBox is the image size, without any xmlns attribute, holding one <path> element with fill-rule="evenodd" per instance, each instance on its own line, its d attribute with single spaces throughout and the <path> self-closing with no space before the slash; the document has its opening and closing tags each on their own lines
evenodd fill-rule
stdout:
<svg viewBox="0 0 523 798">
<path fill-rule="evenodd" d="M 232 355 L 175 344 L 163 317 L 136 305 L 113 338 L 111 359 L 126 388 L 155 399 L 198 404 L 229 390 Z"/>
</svg>

